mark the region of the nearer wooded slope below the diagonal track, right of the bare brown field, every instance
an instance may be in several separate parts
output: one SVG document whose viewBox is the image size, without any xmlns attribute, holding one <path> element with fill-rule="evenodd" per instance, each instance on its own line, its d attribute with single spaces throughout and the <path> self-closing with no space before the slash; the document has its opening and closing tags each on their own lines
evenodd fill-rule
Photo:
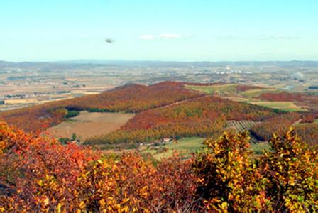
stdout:
<svg viewBox="0 0 318 213">
<path fill-rule="evenodd" d="M 226 121 L 265 121 L 283 112 L 209 96 L 137 114 L 120 130 L 88 139 L 89 144 L 143 143 L 163 137 L 219 136 Z"/>
</svg>

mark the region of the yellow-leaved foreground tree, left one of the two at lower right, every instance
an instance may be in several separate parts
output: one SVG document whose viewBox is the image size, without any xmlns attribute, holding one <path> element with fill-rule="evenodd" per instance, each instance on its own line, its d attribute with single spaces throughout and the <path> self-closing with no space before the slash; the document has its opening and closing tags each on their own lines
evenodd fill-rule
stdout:
<svg viewBox="0 0 318 213">
<path fill-rule="evenodd" d="M 248 133 L 224 133 L 204 142 L 206 151 L 194 158 L 197 197 L 209 211 L 248 212 L 265 209 L 265 185 L 249 158 Z"/>
</svg>

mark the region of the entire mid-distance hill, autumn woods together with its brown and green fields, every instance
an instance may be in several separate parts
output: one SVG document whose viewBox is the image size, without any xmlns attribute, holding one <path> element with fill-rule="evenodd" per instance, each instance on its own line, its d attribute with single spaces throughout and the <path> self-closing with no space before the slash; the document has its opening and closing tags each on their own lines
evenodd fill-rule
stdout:
<svg viewBox="0 0 318 213">
<path fill-rule="evenodd" d="M 302 99 L 306 102 L 300 105 Z M 9 124 L 28 127 L 27 131 L 37 131 L 42 128 L 40 124 L 47 124 L 48 136 L 76 135 L 87 145 L 115 152 L 138 148 L 143 154 L 162 159 L 175 151 L 189 157 L 202 148 L 204 138 L 219 136 L 229 129 L 250 131 L 252 149 L 260 153 L 268 148 L 268 143 L 260 141 L 268 141 L 275 131 L 285 132 L 290 124 L 305 121 L 302 116 L 317 123 L 317 114 L 309 108 L 316 101 L 317 97 L 258 86 L 161 82 L 150 86 L 128 84 L 101 94 L 7 111 L 0 116 Z M 298 129 L 303 136 L 304 132 L 313 135 L 317 126 L 310 127 Z M 175 142 L 138 147 L 163 138 L 173 138 Z"/>
</svg>

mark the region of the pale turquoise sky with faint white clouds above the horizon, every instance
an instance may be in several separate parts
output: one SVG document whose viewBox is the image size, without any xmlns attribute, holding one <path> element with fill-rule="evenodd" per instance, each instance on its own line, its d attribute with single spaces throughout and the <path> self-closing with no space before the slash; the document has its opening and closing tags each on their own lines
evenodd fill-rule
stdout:
<svg viewBox="0 0 318 213">
<path fill-rule="evenodd" d="M 317 11 L 317 0 L 0 0 L 0 60 L 318 60 Z"/>
</svg>

